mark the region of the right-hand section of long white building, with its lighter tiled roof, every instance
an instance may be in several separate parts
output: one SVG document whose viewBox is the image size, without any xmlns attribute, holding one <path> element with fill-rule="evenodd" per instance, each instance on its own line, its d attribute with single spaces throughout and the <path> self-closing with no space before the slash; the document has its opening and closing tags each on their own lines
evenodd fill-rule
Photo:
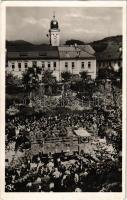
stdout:
<svg viewBox="0 0 127 200">
<path fill-rule="evenodd" d="M 96 78 L 96 58 L 78 47 L 58 47 L 60 56 L 60 74 L 68 71 L 73 75 L 87 72 L 91 79 Z"/>
</svg>

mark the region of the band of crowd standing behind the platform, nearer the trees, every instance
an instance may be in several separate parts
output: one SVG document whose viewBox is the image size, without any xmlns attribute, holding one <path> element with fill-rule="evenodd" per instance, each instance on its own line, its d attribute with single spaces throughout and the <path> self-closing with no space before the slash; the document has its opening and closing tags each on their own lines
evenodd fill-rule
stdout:
<svg viewBox="0 0 127 200">
<path fill-rule="evenodd" d="M 6 122 L 6 138 L 7 142 L 11 140 L 21 141 L 21 137 L 28 139 L 48 138 L 48 137 L 64 137 L 68 132 L 66 127 L 78 129 L 80 127 L 93 132 L 96 135 L 104 137 L 108 129 L 116 130 L 121 128 L 121 113 L 110 110 L 110 112 L 99 112 L 92 110 L 91 112 L 79 113 L 59 113 L 43 114 L 30 117 L 13 117 L 8 118 Z"/>
</svg>

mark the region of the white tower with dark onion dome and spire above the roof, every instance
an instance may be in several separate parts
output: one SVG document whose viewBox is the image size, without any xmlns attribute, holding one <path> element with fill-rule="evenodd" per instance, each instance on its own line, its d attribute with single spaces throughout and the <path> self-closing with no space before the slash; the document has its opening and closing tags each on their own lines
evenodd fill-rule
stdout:
<svg viewBox="0 0 127 200">
<path fill-rule="evenodd" d="M 59 29 L 58 21 L 55 19 L 55 14 L 53 15 L 53 19 L 50 22 L 49 37 L 50 37 L 51 46 L 59 46 L 60 29 Z"/>
</svg>

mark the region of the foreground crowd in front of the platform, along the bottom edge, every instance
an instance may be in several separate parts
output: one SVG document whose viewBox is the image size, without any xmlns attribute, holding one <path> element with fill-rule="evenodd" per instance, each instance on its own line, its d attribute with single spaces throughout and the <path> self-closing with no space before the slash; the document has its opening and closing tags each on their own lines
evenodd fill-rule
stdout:
<svg viewBox="0 0 127 200">
<path fill-rule="evenodd" d="M 46 158 L 25 157 L 22 164 L 6 168 L 7 192 L 89 192 L 120 191 L 118 158 L 95 161 L 85 154 L 64 160 L 62 153 Z M 98 181 L 96 181 L 98 180 Z"/>
</svg>

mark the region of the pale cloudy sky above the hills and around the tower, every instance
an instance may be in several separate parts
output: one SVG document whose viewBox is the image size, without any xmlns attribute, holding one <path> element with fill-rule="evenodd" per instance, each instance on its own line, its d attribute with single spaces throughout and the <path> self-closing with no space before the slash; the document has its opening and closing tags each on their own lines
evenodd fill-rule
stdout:
<svg viewBox="0 0 127 200">
<path fill-rule="evenodd" d="M 122 34 L 122 8 L 8 7 L 6 39 L 49 43 L 46 35 L 54 12 L 61 44 L 69 39 L 91 42 Z"/>
</svg>

